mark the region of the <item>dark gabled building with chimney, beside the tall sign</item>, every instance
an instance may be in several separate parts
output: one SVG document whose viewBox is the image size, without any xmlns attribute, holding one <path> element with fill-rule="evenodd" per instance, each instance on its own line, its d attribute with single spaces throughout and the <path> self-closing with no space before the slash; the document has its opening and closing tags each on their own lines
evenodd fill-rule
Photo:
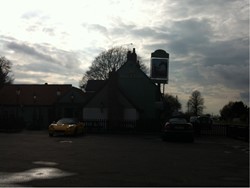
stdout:
<svg viewBox="0 0 250 188">
<path fill-rule="evenodd" d="M 88 126 L 160 129 L 159 112 L 162 109 L 159 104 L 162 96 L 159 87 L 140 69 L 135 49 L 128 52 L 127 62 L 117 71 L 112 71 L 108 80 L 90 82 L 95 89 L 87 88 L 86 91 L 95 92 L 83 109 L 83 119 Z"/>
</svg>

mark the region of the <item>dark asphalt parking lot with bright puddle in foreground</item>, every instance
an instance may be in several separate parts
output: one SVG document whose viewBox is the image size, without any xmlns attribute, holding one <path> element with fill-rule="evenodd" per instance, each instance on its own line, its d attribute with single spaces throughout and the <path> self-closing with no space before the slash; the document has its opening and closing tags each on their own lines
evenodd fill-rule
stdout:
<svg viewBox="0 0 250 188">
<path fill-rule="evenodd" d="M 0 186 L 249 186 L 249 145 L 219 136 L 0 133 Z"/>
</svg>

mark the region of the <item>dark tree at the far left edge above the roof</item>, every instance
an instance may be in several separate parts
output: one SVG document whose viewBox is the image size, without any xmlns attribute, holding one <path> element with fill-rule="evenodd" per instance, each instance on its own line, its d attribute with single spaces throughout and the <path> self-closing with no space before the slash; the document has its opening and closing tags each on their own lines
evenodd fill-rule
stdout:
<svg viewBox="0 0 250 188">
<path fill-rule="evenodd" d="M 12 63 L 5 57 L 0 57 L 0 88 L 5 84 L 12 84 L 14 81 L 11 72 Z"/>
</svg>

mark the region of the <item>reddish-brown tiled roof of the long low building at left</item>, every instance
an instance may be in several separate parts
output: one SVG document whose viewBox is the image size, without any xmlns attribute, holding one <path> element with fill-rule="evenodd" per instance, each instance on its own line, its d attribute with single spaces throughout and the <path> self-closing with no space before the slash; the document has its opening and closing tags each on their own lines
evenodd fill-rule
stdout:
<svg viewBox="0 0 250 188">
<path fill-rule="evenodd" d="M 72 85 L 14 84 L 0 89 L 0 105 L 52 105 Z"/>
</svg>

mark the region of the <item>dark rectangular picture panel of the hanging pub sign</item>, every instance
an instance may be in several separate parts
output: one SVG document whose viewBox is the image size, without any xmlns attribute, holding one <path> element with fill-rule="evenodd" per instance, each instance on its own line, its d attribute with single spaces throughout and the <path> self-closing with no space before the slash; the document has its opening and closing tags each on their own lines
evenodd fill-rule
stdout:
<svg viewBox="0 0 250 188">
<path fill-rule="evenodd" d="M 151 79 L 158 83 L 167 83 L 168 64 L 168 58 L 151 57 Z"/>
</svg>

